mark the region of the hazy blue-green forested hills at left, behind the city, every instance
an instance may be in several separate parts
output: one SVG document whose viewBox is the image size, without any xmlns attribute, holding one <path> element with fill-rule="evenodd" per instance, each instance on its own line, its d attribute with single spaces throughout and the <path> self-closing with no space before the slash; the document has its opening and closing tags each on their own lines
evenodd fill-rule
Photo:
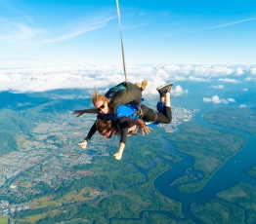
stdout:
<svg viewBox="0 0 256 224">
<path fill-rule="evenodd" d="M 36 124 L 91 104 L 73 93 L 58 93 L 0 93 L 0 156 L 17 151 L 19 135 L 29 135 Z"/>
</svg>

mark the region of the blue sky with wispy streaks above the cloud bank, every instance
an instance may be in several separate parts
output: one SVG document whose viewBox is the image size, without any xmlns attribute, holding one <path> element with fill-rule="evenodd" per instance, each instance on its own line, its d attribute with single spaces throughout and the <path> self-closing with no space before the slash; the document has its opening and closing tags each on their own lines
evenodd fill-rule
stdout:
<svg viewBox="0 0 256 224">
<path fill-rule="evenodd" d="M 119 0 L 127 64 L 255 64 L 255 0 Z M 0 68 L 122 64 L 115 0 L 0 0 Z"/>
</svg>

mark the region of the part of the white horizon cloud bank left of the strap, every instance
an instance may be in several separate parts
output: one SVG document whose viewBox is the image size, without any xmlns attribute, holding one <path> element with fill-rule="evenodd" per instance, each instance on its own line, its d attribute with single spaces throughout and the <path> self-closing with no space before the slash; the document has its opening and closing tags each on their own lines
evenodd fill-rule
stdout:
<svg viewBox="0 0 256 224">
<path fill-rule="evenodd" d="M 107 87 L 123 79 L 122 75 L 105 76 L 98 67 L 52 67 L 1 71 L 1 91 L 44 92 L 57 89 L 92 89 Z M 107 73 L 108 74 L 108 73 Z M 112 80 L 114 79 L 114 80 Z"/>
</svg>

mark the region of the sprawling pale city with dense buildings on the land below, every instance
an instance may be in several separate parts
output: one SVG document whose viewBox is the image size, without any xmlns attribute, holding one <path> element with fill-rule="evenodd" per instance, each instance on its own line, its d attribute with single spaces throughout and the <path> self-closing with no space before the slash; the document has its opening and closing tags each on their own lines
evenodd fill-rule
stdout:
<svg viewBox="0 0 256 224">
<path fill-rule="evenodd" d="M 166 132 L 176 131 L 181 123 L 192 121 L 195 110 L 173 107 L 172 112 L 172 123 L 159 125 Z M 98 133 L 86 149 L 78 145 L 95 118 L 95 115 L 88 114 L 79 118 L 72 113 L 59 114 L 55 122 L 36 123 L 29 133 L 19 133 L 19 151 L 0 158 L 0 195 L 10 197 L 15 193 L 22 198 L 27 192 L 39 194 L 42 189 L 34 186 L 41 182 L 58 189 L 66 181 L 93 175 L 93 171 L 75 170 L 72 167 L 92 163 L 95 156 L 109 156 L 107 140 Z M 149 134 L 153 134 L 153 131 Z M 28 209 L 29 206 L 29 202 L 21 205 L 0 202 L 2 216 Z"/>
</svg>

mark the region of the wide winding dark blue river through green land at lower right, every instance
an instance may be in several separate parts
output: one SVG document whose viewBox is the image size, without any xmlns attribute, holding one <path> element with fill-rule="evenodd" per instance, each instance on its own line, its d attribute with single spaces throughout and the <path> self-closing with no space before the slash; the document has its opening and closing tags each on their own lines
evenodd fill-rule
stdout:
<svg viewBox="0 0 256 224">
<path fill-rule="evenodd" d="M 202 119 L 202 114 L 199 113 L 195 117 L 195 123 L 208 128 L 230 130 L 228 128 L 214 126 Z M 232 131 L 235 131 L 234 129 Z M 223 167 L 219 168 L 206 183 L 204 188 L 196 193 L 184 193 L 178 191 L 176 186 L 170 186 L 170 183 L 185 174 L 188 168 L 193 165 L 191 156 L 177 151 L 168 140 L 162 138 L 165 144 L 165 150 L 172 154 L 181 157 L 183 160 L 179 163 L 173 163 L 172 168 L 159 175 L 154 181 L 154 187 L 164 196 L 182 203 L 183 214 L 185 219 L 191 219 L 194 223 L 202 223 L 199 219 L 192 215 L 190 206 L 192 204 L 204 205 L 216 198 L 218 192 L 229 189 L 238 182 L 256 185 L 256 179 L 248 176 L 245 168 L 256 166 L 256 136 L 246 133 L 244 131 L 237 131 L 246 137 L 246 144 L 236 153 L 230 160 L 228 160 Z"/>
</svg>

